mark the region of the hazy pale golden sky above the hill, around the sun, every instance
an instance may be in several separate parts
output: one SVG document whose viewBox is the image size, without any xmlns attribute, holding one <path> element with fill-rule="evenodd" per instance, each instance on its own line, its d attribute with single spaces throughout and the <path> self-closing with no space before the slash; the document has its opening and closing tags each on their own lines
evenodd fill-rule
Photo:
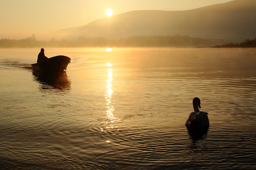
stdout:
<svg viewBox="0 0 256 170">
<path fill-rule="evenodd" d="M 0 38 L 38 39 L 50 31 L 85 25 L 133 10 L 188 10 L 231 0 L 0 0 Z"/>
</svg>

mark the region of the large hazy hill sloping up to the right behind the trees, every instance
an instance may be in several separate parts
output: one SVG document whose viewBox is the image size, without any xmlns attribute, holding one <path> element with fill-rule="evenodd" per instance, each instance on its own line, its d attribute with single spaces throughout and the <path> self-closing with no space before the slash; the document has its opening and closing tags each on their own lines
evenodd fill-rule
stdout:
<svg viewBox="0 0 256 170">
<path fill-rule="evenodd" d="M 78 36 L 119 39 L 140 35 L 189 35 L 241 42 L 256 37 L 256 0 L 234 0 L 187 11 L 131 11 L 84 26 L 52 33 L 57 39 Z"/>
</svg>

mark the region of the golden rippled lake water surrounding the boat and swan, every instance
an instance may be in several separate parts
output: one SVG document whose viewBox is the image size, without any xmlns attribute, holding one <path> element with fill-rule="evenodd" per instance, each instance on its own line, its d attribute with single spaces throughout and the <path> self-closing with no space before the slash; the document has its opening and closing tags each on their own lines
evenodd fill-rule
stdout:
<svg viewBox="0 0 256 170">
<path fill-rule="evenodd" d="M 0 49 L 1 169 L 256 168 L 256 49 L 45 49 L 71 58 L 52 77 L 39 52 Z"/>
</svg>

